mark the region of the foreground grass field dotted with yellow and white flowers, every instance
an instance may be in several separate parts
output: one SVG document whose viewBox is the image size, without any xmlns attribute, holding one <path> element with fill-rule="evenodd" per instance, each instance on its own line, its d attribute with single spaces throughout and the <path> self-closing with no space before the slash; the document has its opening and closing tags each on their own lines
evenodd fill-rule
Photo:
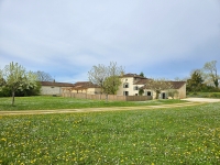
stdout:
<svg viewBox="0 0 220 165">
<path fill-rule="evenodd" d="M 0 125 L 2 165 L 220 164 L 220 103 L 4 116 Z"/>
</svg>

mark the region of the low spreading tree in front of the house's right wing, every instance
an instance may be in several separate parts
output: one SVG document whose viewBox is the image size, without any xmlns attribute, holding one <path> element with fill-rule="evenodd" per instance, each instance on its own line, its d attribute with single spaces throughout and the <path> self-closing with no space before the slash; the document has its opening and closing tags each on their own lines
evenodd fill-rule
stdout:
<svg viewBox="0 0 220 165">
<path fill-rule="evenodd" d="M 146 89 L 152 89 L 156 92 L 156 99 L 158 99 L 160 94 L 162 90 L 168 90 L 173 88 L 173 85 L 170 81 L 160 78 L 160 79 L 148 79 L 146 85 Z"/>
</svg>

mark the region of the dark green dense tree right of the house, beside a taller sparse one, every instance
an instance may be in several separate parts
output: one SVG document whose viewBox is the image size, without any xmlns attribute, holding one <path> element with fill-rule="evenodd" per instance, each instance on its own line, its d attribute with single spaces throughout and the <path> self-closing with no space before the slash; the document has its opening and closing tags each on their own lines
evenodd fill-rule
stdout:
<svg viewBox="0 0 220 165">
<path fill-rule="evenodd" d="M 201 72 L 199 69 L 194 70 L 191 77 L 187 79 L 186 90 L 197 92 L 204 87 L 204 79 L 201 77 Z"/>
</svg>

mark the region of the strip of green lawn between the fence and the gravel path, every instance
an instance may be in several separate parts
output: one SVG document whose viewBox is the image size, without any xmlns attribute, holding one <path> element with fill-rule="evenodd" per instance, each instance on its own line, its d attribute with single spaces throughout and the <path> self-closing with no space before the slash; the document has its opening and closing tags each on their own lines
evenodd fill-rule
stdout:
<svg viewBox="0 0 220 165">
<path fill-rule="evenodd" d="M 183 100 L 150 100 L 150 101 L 101 101 L 85 100 L 63 97 L 18 97 L 15 106 L 11 106 L 11 98 L 0 98 L 0 111 L 2 110 L 53 110 L 74 108 L 98 108 L 98 107 L 131 107 L 144 105 L 179 103 Z"/>
</svg>

